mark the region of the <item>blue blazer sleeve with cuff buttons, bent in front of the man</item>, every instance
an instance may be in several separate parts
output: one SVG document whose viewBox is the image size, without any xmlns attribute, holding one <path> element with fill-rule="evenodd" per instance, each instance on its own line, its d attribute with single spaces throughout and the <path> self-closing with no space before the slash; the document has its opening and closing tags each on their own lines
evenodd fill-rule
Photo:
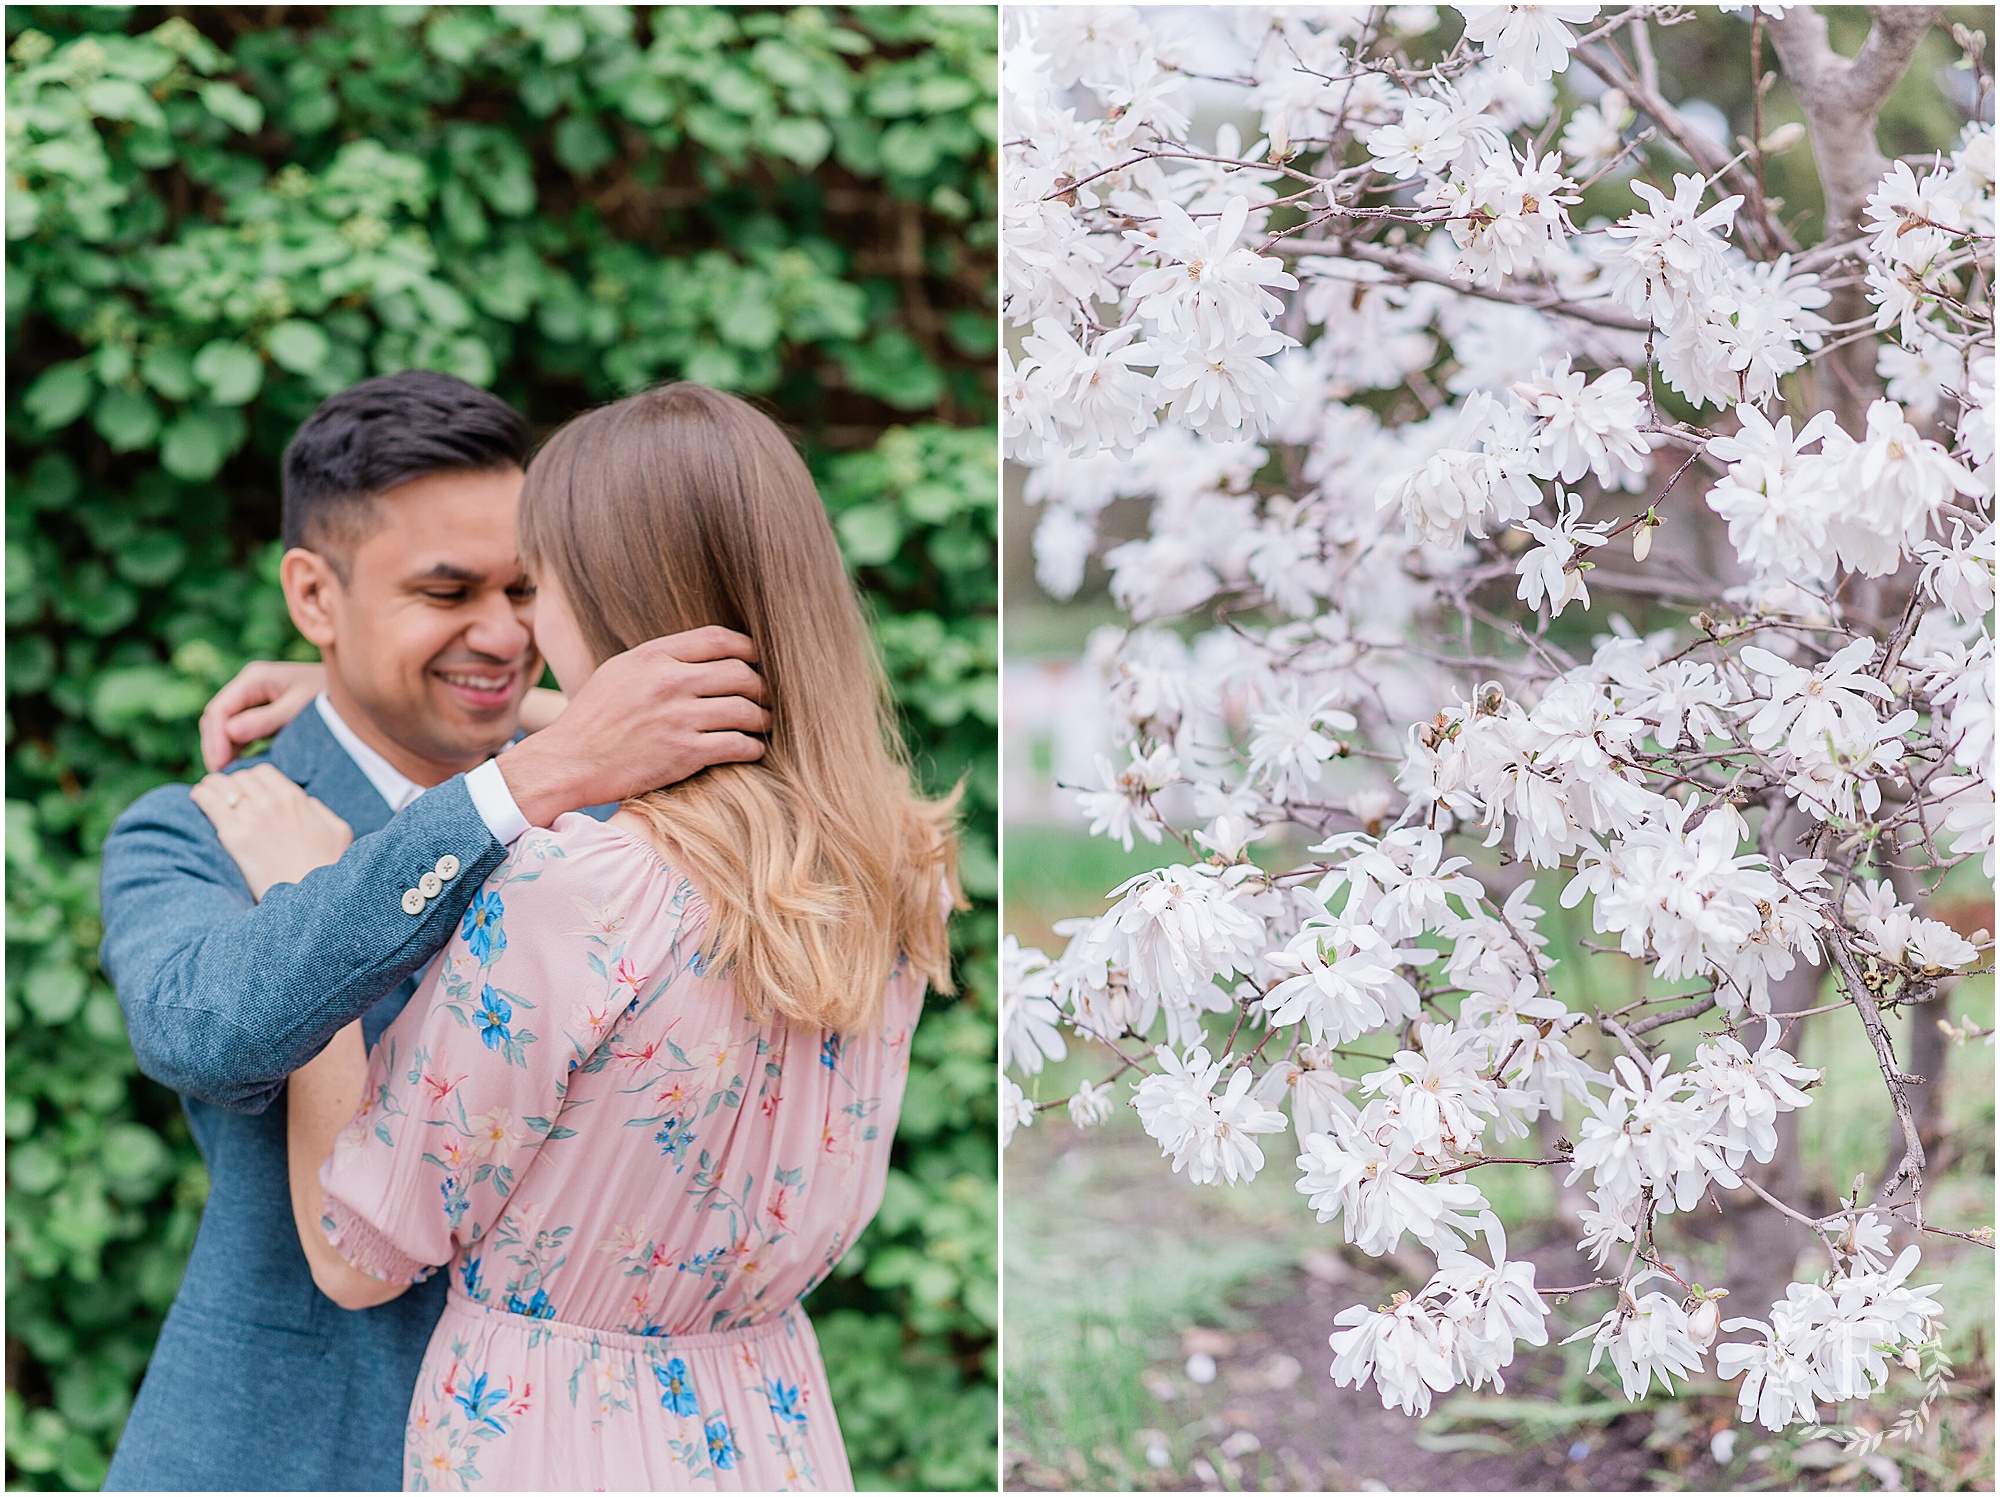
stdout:
<svg viewBox="0 0 2000 1497">
<path fill-rule="evenodd" d="M 446 855 L 458 871 L 406 913 L 404 893 Z M 292 1071 L 444 945 L 504 857 L 458 777 L 258 903 L 188 789 L 152 791 L 112 827 L 102 871 L 100 961 L 140 1071 L 262 1113 Z"/>
</svg>

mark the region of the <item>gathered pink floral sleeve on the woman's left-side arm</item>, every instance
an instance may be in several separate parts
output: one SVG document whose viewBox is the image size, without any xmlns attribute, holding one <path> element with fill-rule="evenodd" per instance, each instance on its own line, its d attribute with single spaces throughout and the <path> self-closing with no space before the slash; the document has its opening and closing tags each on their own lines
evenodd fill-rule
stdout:
<svg viewBox="0 0 2000 1497">
<path fill-rule="evenodd" d="M 670 979 L 636 971 L 602 915 L 618 865 L 566 853 L 556 833 L 522 837 L 376 1043 L 362 1109 L 320 1167 L 320 1227 L 362 1273 L 414 1283 L 476 1243 L 540 1149 L 570 1135 L 570 1073 Z"/>
</svg>

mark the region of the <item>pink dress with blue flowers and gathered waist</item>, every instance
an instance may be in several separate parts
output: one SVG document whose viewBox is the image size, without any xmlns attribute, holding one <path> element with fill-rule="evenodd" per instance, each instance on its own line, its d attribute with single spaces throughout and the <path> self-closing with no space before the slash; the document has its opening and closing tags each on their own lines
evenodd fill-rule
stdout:
<svg viewBox="0 0 2000 1497">
<path fill-rule="evenodd" d="M 408 1491 L 852 1487 L 812 1323 L 882 1203 L 924 985 L 758 1025 L 650 843 L 528 833 L 368 1059 L 320 1169 L 356 1267 L 450 1297 Z"/>
</svg>

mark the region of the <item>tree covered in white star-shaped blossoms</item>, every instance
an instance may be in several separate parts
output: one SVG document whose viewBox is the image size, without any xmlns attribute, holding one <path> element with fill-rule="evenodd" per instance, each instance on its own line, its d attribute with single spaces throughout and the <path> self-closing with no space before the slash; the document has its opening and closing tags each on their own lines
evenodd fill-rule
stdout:
<svg viewBox="0 0 2000 1497">
<path fill-rule="evenodd" d="M 1898 1361 L 1934 1391 L 1924 1077 L 1888 1015 L 1990 971 L 1924 915 L 1994 863 L 1984 38 L 1954 30 L 1950 156 L 1890 162 L 1876 114 L 1936 8 L 1872 8 L 1844 58 L 1806 6 L 1724 6 L 1756 78 L 1734 144 L 1662 96 L 1652 36 L 1686 8 L 1460 10 L 1456 40 L 1428 8 L 1012 12 L 1004 430 L 1042 586 L 1102 556 L 1132 618 L 1092 640 L 1124 763 L 1080 805 L 1186 861 L 1058 925 L 1056 957 L 1006 949 L 1010 1069 L 1066 1033 L 1118 1063 L 1066 1099 L 1004 1079 L 1004 1131 L 1128 1099 L 1176 1171 L 1232 1185 L 1290 1113 L 1320 1221 L 1436 1257 L 1332 1331 L 1334 1381 L 1406 1413 L 1500 1387 L 1558 1297 L 1626 1397 L 1710 1359 L 1770 1429 Z M 1772 52 L 1804 124 L 1766 132 Z M 1566 118 L 1558 74 L 1596 88 Z M 1812 232 L 1766 192 L 1806 142 Z M 1618 212 L 1578 222 L 1606 182 Z M 1106 546 L 1116 498 L 1148 530 Z M 1640 634 L 1616 596 L 1682 622 Z M 1310 861 L 1248 855 L 1288 839 Z M 1550 899 L 1650 969 L 1636 1001 L 1558 999 Z M 1814 1215 L 1780 1155 L 1822 1075 L 1788 1045 L 1830 1011 L 1898 1151 Z M 1594 1279 L 1508 1257 L 1500 1169 L 1586 1189 Z M 1824 1271 L 1724 1319 L 1664 1231 L 1724 1193 Z"/>
</svg>

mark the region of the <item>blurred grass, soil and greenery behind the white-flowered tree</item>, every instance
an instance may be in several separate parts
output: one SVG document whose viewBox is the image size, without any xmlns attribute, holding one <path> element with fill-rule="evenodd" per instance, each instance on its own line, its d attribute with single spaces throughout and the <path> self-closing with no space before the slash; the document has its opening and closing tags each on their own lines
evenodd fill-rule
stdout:
<svg viewBox="0 0 2000 1497">
<path fill-rule="evenodd" d="M 1824 6 L 1832 42 L 1852 54 L 1868 32 L 1862 6 Z M 1180 24 L 1188 10 L 1148 10 L 1160 26 Z M 1450 50 L 1458 14 L 1438 6 L 1432 32 L 1414 38 L 1424 58 Z M 1974 102 L 1974 80 L 1956 68 L 1960 50 L 1950 24 L 1992 28 L 1992 12 L 1952 6 L 1932 28 L 1888 98 L 1880 118 L 1882 150 L 1926 154 L 1950 148 Z M 1216 32 L 1226 32 L 1216 26 Z M 1676 24 L 1652 26 L 1662 90 L 1686 106 L 1690 120 L 1720 140 L 1752 128 L 1750 22 L 1708 6 L 1680 8 Z M 1228 38 L 1224 38 L 1228 40 Z M 1228 68 L 1218 62 L 1218 70 Z M 1778 68 L 1770 40 L 1762 66 Z M 1602 84 L 1580 64 L 1558 80 L 1558 108 L 1596 96 Z M 1214 100 L 1208 100 L 1210 104 Z M 1992 100 L 1986 100 L 1990 118 Z M 1198 112 L 1196 138 L 1222 114 Z M 1764 100 L 1764 130 L 1800 120 L 1782 76 Z M 1244 140 L 1258 136 L 1256 118 L 1240 116 Z M 1734 146 L 1732 146 L 1734 150 Z M 1664 182 L 1688 160 L 1670 146 L 1646 154 L 1648 180 Z M 1596 182 L 1574 210 L 1576 222 L 1618 218 L 1634 204 L 1628 176 Z M 1812 152 L 1798 146 L 1768 160 L 1768 190 L 1782 222 L 1804 242 L 1822 238 L 1824 200 Z M 1384 418 L 1408 418 L 1408 392 L 1354 396 Z M 1662 394 L 1676 414 L 1678 396 Z M 1404 410 L 1396 410 L 1402 402 Z M 1088 751 L 1098 720 L 1096 696 L 1082 666 L 1096 628 L 1128 620 L 1112 604 L 1106 572 L 1092 560 L 1072 600 L 1050 600 L 1034 580 L 1030 536 L 1038 512 L 1020 496 L 1022 474 L 1006 472 L 1004 498 L 1004 616 L 1006 616 L 1006 887 L 1004 929 L 1022 945 L 1056 953 L 1064 937 L 1056 921 L 1108 909 L 1106 891 L 1146 869 L 1186 861 L 1168 839 L 1132 851 L 1092 839 L 1070 815 L 1056 781 L 1090 779 Z M 1104 546 L 1146 532 L 1146 504 L 1116 500 L 1100 522 Z M 1700 530 L 1712 516 L 1678 506 L 1676 526 Z M 1714 554 L 1700 552 L 1696 554 Z M 1592 592 L 1598 592 L 1596 580 Z M 1686 624 L 1676 610 L 1644 594 L 1598 596 L 1584 614 L 1556 620 L 1550 636 L 1590 652 L 1612 612 L 1640 630 Z M 1492 598 L 1514 608 L 1512 590 Z M 1480 648 L 1502 646 L 1478 634 Z M 1454 847 L 1454 853 L 1478 849 Z M 1272 869 L 1306 861 L 1300 841 L 1258 845 L 1254 855 Z M 1476 869 L 1506 891 L 1518 871 L 1492 857 Z M 1618 955 L 1592 955 L 1588 907 L 1562 911 L 1560 879 L 1538 883 L 1548 911 L 1542 929 L 1560 957 L 1554 985 L 1582 1007 L 1590 995 L 1638 993 L 1640 967 Z M 1958 869 L 1932 901 L 1932 913 L 1962 935 L 1994 925 L 1992 885 L 1976 867 Z M 1832 999 L 1832 983 L 1826 985 Z M 1976 977 L 1926 1011 L 1994 1023 L 1994 981 Z M 1694 1027 L 1682 1025 L 1692 1031 Z M 1674 1033 L 1674 1031 L 1668 1031 Z M 1912 1017 L 1894 1021 L 1898 1053 L 1910 1053 Z M 1220 1053 L 1226 1019 L 1210 1027 Z M 1668 1049 L 1692 1055 L 1694 1033 L 1674 1033 Z M 1800 1191 L 1834 1209 L 1858 1173 L 1876 1179 L 1890 1151 L 1894 1119 L 1876 1075 L 1874 1057 L 1852 1015 L 1830 1013 L 1794 1031 L 1806 1065 L 1830 1071 L 1822 1107 L 1800 1115 Z M 1610 1051 L 1590 1061 L 1608 1067 Z M 1100 1047 L 1070 1041 L 1070 1057 L 1040 1077 L 1018 1077 L 1038 1101 L 1068 1097 L 1080 1081 L 1102 1081 L 1118 1067 Z M 1348 1075 L 1376 1069 L 1342 1061 Z M 1932 1091 L 1926 1087 L 1926 1091 Z M 1290 1133 L 1264 1139 L 1266 1169 L 1248 1185 L 1196 1187 L 1170 1173 L 1158 1145 L 1144 1135 L 1130 1107 L 1130 1083 L 1114 1089 L 1120 1107 L 1096 1131 L 1074 1129 L 1050 1111 L 1016 1133 L 1006 1153 L 1006 1457 L 1008 1489 L 1292 1489 L 1292 1491 L 1510 1491 L 1510 1489 L 1992 1489 L 1992 1251 L 1946 1237 L 1924 1239 L 1918 1279 L 1942 1281 L 1948 1307 L 1946 1351 L 1956 1379 L 1930 1429 L 1916 1441 L 1888 1441 L 1856 1461 L 1826 1439 L 1770 1437 L 1738 1427 L 1734 1383 L 1714 1377 L 1692 1385 L 1688 1399 L 1648 1397 L 1626 1403 L 1608 1363 L 1586 1373 L 1588 1345 L 1524 1355 L 1508 1371 L 1504 1397 L 1454 1395 L 1420 1421 L 1384 1411 L 1376 1391 L 1336 1389 L 1328 1379 L 1326 1337 L 1340 1309 L 1378 1305 L 1396 1291 L 1414 1291 L 1430 1273 L 1428 1255 L 1370 1259 L 1340 1245 L 1340 1235 L 1312 1221 L 1294 1191 L 1296 1153 Z M 1994 1053 L 1972 1043 L 1950 1049 L 1936 1079 L 1936 1165 L 1928 1219 L 1940 1227 L 1976 1231 L 1994 1223 Z M 1574 1127 L 1574 1115 L 1570 1119 Z M 1508 1225 L 1510 1249 L 1536 1259 L 1542 1283 L 1580 1283 L 1576 1229 L 1546 1171 L 1496 1171 L 1482 1179 Z M 1678 1223 L 1678 1219 L 1676 1219 Z M 1712 1227 L 1684 1235 L 1684 1249 L 1704 1283 L 1728 1283 L 1728 1241 Z M 1806 1247 L 1804 1241 L 1798 1247 Z M 1814 1277 L 1824 1255 L 1800 1259 Z M 1602 1313 L 1602 1295 L 1578 1299 L 1550 1317 L 1566 1335 Z M 1730 1301 L 1728 1315 L 1764 1315 L 1762 1305 Z M 1558 1329 L 1560 1327 L 1560 1329 Z M 1920 1379 L 1900 1375 L 1874 1411 L 1844 1407 L 1842 1419 L 1888 1423 L 1916 1403 Z"/>
</svg>

